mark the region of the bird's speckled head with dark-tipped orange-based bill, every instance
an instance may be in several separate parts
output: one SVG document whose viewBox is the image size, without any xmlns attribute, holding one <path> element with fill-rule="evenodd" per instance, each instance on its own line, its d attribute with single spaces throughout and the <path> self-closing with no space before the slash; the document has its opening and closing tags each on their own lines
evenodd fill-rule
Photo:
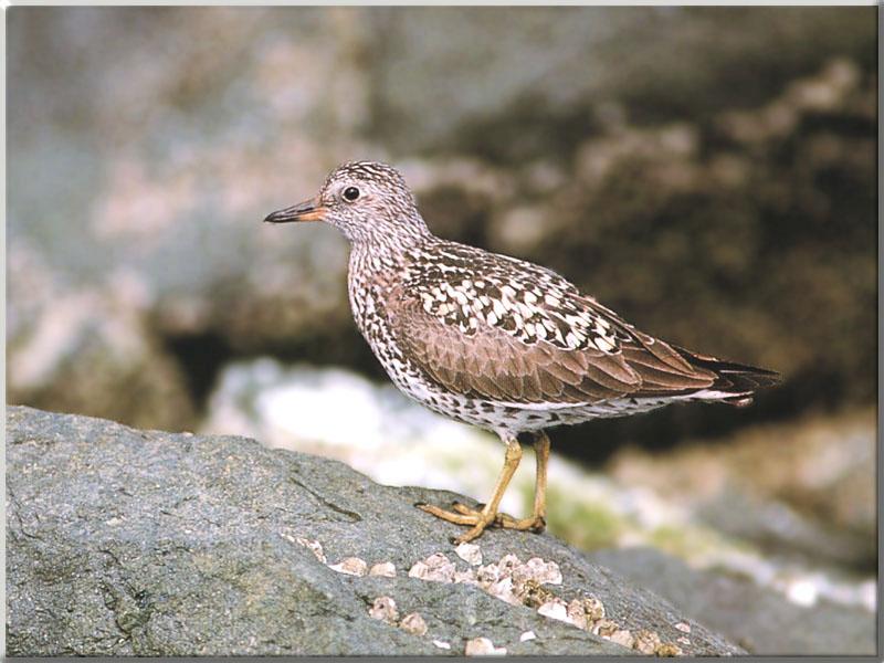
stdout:
<svg viewBox="0 0 884 663">
<path fill-rule="evenodd" d="M 350 161 L 326 178 L 315 198 L 264 221 L 326 221 L 352 243 L 396 243 L 429 233 L 402 175 L 377 161 Z"/>
</svg>

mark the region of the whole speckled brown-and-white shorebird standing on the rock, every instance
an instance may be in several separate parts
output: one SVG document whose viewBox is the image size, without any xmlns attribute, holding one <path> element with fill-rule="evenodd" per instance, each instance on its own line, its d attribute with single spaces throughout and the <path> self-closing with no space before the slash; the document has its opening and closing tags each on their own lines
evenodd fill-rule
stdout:
<svg viewBox="0 0 884 663">
<path fill-rule="evenodd" d="M 349 161 L 314 198 L 269 223 L 324 221 L 350 243 L 354 319 L 392 382 L 430 410 L 496 433 L 504 464 L 491 498 L 450 509 L 465 526 L 546 527 L 547 429 L 685 401 L 745 407 L 778 372 L 719 360 L 655 338 L 547 267 L 434 235 L 394 167 Z M 529 436 L 536 474 L 530 516 L 498 513 Z"/>
</svg>

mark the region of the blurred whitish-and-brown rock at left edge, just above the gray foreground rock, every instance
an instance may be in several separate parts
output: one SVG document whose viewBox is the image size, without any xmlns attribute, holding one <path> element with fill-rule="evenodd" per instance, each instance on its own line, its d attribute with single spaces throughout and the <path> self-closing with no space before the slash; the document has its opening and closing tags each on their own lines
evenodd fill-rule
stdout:
<svg viewBox="0 0 884 663">
<path fill-rule="evenodd" d="M 119 270 L 101 290 L 75 290 L 21 242 L 8 260 L 9 402 L 194 427 L 186 376 L 141 316 L 147 295 L 136 274 Z"/>
</svg>

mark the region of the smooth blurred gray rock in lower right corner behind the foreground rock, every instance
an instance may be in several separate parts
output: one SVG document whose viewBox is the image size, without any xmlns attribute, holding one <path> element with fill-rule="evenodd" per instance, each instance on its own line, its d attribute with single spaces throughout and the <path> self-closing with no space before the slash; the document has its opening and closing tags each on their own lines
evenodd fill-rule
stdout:
<svg viewBox="0 0 884 663">
<path fill-rule="evenodd" d="M 650 548 L 598 550 L 593 561 L 701 618 L 753 654 L 872 655 L 875 615 L 859 608 L 819 602 L 803 608 L 745 578 L 695 571 Z"/>
</svg>

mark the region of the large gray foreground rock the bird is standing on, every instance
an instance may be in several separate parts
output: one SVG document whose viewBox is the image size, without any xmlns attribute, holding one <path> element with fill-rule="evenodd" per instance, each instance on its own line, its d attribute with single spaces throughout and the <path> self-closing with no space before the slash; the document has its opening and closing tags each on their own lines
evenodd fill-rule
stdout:
<svg viewBox="0 0 884 663">
<path fill-rule="evenodd" d="M 7 412 L 7 646 L 11 655 L 433 654 L 490 638 L 508 653 L 629 654 L 586 630 L 512 606 L 476 586 L 408 577 L 446 554 L 453 525 L 415 501 L 455 495 L 372 483 L 346 465 L 253 440 L 138 431 L 80 415 Z M 359 557 L 394 578 L 339 573 Z M 543 535 L 492 530 L 486 561 L 505 554 L 558 562 L 570 600 L 599 598 L 607 615 L 662 641 L 691 624 L 688 654 L 743 650 L 646 589 Z M 380 596 L 417 635 L 372 619 Z M 520 642 L 533 630 L 537 638 Z M 440 650 L 433 640 L 448 642 Z"/>
</svg>

